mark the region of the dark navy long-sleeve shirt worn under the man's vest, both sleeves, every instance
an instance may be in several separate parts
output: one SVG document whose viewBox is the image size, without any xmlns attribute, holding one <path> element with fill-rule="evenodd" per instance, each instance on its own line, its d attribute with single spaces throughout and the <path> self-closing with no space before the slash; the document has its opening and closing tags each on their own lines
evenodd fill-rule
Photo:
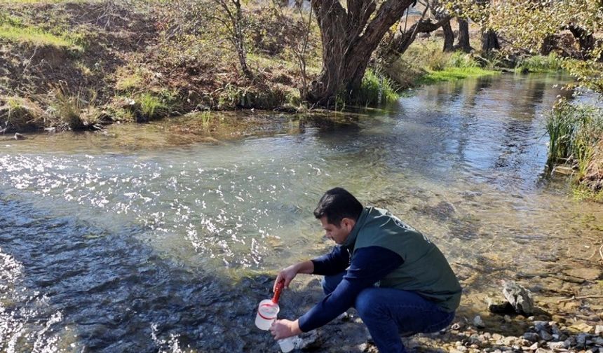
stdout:
<svg viewBox="0 0 603 353">
<path fill-rule="evenodd" d="M 345 247 L 334 247 L 329 254 L 314 258 L 315 275 L 337 275 L 349 268 L 332 293 L 299 317 L 299 328 L 308 332 L 327 324 L 348 310 L 360 291 L 379 282 L 403 262 L 400 255 L 384 247 L 356 249 L 352 261 Z"/>
</svg>

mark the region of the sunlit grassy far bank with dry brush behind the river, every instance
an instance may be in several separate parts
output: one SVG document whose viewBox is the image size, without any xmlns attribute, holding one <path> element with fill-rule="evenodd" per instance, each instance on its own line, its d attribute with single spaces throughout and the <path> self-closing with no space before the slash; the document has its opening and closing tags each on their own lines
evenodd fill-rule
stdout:
<svg viewBox="0 0 603 353">
<path fill-rule="evenodd" d="M 255 75 L 249 78 L 220 40 L 223 29 L 201 14 L 200 23 L 192 23 L 177 5 L 15 0 L 0 6 L 0 121 L 6 133 L 97 130 L 191 111 L 306 111 L 300 85 L 320 71 L 316 28 L 309 29 L 303 71 L 292 52 L 304 34 L 303 18 L 292 8 L 248 14 L 245 38 Z M 367 72 L 361 104 L 395 102 L 395 90 L 423 83 L 496 74 L 468 56 L 449 60 L 439 54 L 438 41 L 420 41 L 426 49 L 409 52 L 413 66 L 400 82 Z"/>
</svg>

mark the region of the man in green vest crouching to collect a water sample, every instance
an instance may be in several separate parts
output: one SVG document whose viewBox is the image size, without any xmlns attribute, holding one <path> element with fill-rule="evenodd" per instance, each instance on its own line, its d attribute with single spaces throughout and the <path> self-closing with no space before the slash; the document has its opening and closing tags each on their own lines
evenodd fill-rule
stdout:
<svg viewBox="0 0 603 353">
<path fill-rule="evenodd" d="M 309 332 L 355 307 L 380 352 L 405 352 L 400 333 L 435 332 L 452 322 L 461 285 L 419 231 L 385 209 L 363 207 L 343 188 L 327 191 L 314 216 L 338 245 L 281 270 L 275 286 L 289 286 L 298 273 L 324 275 L 326 296 L 295 321 L 275 321 L 275 339 Z"/>
</svg>

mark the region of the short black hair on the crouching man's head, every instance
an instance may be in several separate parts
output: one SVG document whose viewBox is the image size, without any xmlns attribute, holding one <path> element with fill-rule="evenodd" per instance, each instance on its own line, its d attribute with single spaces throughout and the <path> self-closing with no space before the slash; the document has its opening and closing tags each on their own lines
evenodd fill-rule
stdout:
<svg viewBox="0 0 603 353">
<path fill-rule="evenodd" d="M 317 219 L 327 216 L 327 223 L 339 227 L 344 218 L 358 221 L 363 212 L 363 204 L 344 188 L 332 188 L 328 190 L 314 210 Z"/>
</svg>

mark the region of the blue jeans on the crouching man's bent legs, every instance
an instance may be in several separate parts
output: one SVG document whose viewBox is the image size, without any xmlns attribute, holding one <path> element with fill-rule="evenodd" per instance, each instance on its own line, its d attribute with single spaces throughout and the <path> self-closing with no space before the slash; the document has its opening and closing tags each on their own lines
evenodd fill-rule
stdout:
<svg viewBox="0 0 603 353">
<path fill-rule="evenodd" d="M 323 291 L 329 294 L 346 272 L 323 278 Z M 445 312 L 435 303 L 412 291 L 370 287 L 358 294 L 355 308 L 369 329 L 379 352 L 406 352 L 400 333 L 430 333 L 446 328 L 454 312 Z"/>
</svg>

